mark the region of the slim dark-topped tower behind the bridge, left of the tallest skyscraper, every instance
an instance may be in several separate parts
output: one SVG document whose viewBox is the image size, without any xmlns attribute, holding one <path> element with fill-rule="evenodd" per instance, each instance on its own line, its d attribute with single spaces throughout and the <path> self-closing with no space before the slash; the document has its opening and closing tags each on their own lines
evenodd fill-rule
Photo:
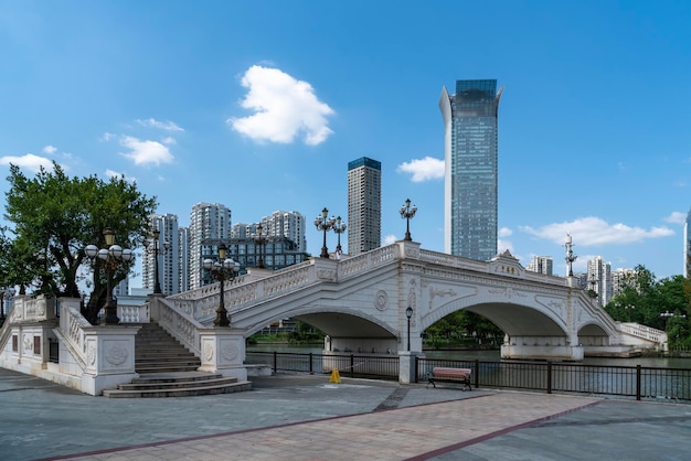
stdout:
<svg viewBox="0 0 691 461">
<path fill-rule="evenodd" d="M 382 163 L 362 157 L 348 162 L 348 254 L 382 243 Z"/>
</svg>

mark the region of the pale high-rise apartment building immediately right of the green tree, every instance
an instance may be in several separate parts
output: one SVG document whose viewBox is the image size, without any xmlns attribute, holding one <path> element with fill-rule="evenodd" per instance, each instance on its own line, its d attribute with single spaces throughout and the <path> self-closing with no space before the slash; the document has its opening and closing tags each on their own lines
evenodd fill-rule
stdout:
<svg viewBox="0 0 691 461">
<path fill-rule="evenodd" d="M 177 294 L 180 288 L 180 235 L 178 216 L 174 214 L 151 215 L 151 228 L 159 232 L 158 237 L 158 277 L 161 291 Z M 156 249 L 151 239 L 143 249 L 141 264 L 142 287 L 153 291 L 156 287 Z"/>
</svg>

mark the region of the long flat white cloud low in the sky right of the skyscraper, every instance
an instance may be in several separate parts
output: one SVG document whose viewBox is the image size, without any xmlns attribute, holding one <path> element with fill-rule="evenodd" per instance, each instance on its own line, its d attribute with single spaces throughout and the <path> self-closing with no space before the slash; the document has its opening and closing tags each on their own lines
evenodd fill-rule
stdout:
<svg viewBox="0 0 691 461">
<path fill-rule="evenodd" d="M 594 245 L 625 245 L 641 243 L 649 238 L 661 238 L 674 235 L 674 230 L 668 227 L 630 227 L 626 224 L 609 224 L 606 221 L 588 216 L 574 219 L 570 223 L 548 224 L 540 228 L 530 226 L 519 227 L 522 232 L 540 238 L 546 238 L 555 244 L 562 245 L 566 238 L 566 233 L 571 233 L 574 244 L 583 246 Z"/>
</svg>

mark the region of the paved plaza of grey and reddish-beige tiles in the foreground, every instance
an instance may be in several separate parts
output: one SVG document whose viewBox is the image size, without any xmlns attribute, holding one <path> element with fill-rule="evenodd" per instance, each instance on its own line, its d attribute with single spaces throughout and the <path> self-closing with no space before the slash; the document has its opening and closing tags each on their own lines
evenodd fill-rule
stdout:
<svg viewBox="0 0 691 461">
<path fill-rule="evenodd" d="M 108 399 L 0 368 L 0 459 L 688 460 L 691 405 L 278 375 Z"/>
</svg>

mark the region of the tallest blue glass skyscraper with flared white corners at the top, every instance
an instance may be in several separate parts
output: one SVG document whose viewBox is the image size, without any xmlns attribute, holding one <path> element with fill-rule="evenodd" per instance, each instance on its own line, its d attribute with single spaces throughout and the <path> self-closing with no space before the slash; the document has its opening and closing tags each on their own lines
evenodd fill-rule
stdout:
<svg viewBox="0 0 691 461">
<path fill-rule="evenodd" d="M 497 81 L 456 81 L 442 88 L 444 119 L 444 250 L 490 260 L 497 255 L 499 99 Z"/>
</svg>

